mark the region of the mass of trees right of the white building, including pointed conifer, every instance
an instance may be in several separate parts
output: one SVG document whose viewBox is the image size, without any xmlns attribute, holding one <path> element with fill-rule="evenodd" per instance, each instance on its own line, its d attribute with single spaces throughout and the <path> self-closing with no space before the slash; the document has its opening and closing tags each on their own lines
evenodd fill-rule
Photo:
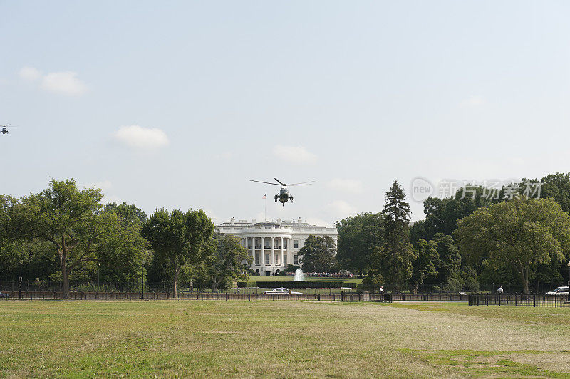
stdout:
<svg viewBox="0 0 570 379">
<path fill-rule="evenodd" d="M 524 183 L 541 182 L 541 192 Z M 452 197 L 429 197 L 425 219 L 410 225 L 410 207 L 397 181 L 386 193 L 383 212 L 337 222 L 341 269 L 366 274 L 362 287 L 434 284 L 442 291 L 478 291 L 480 283 L 559 285 L 570 260 L 570 174 L 523 180 L 486 196 L 472 187 Z"/>
</svg>

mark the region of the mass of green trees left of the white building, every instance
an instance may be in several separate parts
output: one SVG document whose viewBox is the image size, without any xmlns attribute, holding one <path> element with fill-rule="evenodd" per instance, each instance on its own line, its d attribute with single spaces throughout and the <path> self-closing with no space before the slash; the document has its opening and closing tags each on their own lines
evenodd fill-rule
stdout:
<svg viewBox="0 0 570 379">
<path fill-rule="evenodd" d="M 103 205 L 103 192 L 80 189 L 74 180 L 51 180 L 49 187 L 21 198 L 0 195 L 0 279 L 24 274 L 38 282 L 94 281 L 136 286 L 180 279 L 216 290 L 247 279 L 251 256 L 241 239 L 214 232 L 201 209 L 150 217 L 129 204 Z"/>
</svg>

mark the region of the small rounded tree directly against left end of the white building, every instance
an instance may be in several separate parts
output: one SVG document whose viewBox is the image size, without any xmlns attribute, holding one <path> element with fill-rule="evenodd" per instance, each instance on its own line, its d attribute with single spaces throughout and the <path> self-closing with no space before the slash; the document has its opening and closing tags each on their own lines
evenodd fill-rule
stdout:
<svg viewBox="0 0 570 379">
<path fill-rule="evenodd" d="M 217 234 L 209 243 L 204 267 L 212 281 L 212 291 L 226 288 L 236 279 L 247 281 L 247 269 L 253 257 L 242 245 L 242 239 L 232 234 Z"/>
</svg>

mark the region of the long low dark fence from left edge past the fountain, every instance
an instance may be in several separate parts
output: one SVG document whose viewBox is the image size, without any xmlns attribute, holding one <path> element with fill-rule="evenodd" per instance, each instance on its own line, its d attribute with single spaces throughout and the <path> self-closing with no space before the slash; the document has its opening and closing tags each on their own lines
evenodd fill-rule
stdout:
<svg viewBox="0 0 570 379">
<path fill-rule="evenodd" d="M 10 298 L 19 298 L 19 291 L 6 291 Z M 27 300 L 61 300 L 61 291 L 22 291 Z M 169 292 L 70 292 L 68 300 L 168 300 Z M 232 294 L 227 292 L 180 292 L 179 300 L 293 300 L 293 301 L 381 301 L 392 302 L 391 294 L 341 292 L 340 294 Z"/>
</svg>

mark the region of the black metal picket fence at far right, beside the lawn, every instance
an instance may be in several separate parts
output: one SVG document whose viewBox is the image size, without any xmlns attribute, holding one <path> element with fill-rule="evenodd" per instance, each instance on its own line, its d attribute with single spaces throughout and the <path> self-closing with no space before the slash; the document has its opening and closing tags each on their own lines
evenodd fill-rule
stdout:
<svg viewBox="0 0 570 379">
<path fill-rule="evenodd" d="M 549 306 L 570 307 L 570 295 L 470 294 L 470 306 Z"/>
</svg>

